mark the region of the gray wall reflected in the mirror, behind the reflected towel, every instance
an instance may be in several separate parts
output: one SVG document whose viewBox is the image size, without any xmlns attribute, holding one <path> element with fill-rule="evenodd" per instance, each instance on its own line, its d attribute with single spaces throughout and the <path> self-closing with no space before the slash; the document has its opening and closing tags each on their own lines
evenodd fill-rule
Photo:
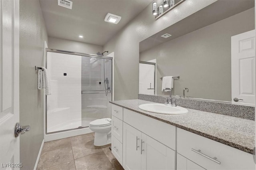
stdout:
<svg viewBox="0 0 256 170">
<path fill-rule="evenodd" d="M 231 36 L 254 30 L 254 8 L 140 53 L 157 60 L 157 77 L 174 75 L 172 95 L 231 101 Z M 157 94 L 162 81 L 157 79 Z M 167 93 L 166 93 L 167 94 Z"/>
</svg>

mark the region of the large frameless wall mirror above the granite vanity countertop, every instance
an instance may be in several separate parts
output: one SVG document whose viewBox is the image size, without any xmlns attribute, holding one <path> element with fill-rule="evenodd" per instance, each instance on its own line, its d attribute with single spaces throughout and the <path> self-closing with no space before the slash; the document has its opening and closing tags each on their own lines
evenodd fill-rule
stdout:
<svg viewBox="0 0 256 170">
<path fill-rule="evenodd" d="M 140 42 L 140 61 L 156 63 L 154 87 L 140 74 L 140 93 L 168 95 L 160 78 L 179 76 L 173 96 L 254 104 L 254 13 L 254 0 L 218 0 Z"/>
</svg>

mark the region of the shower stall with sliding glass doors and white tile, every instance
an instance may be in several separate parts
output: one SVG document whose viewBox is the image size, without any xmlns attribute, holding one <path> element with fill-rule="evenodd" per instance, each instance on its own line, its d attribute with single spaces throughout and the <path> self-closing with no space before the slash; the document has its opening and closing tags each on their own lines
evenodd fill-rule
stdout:
<svg viewBox="0 0 256 170">
<path fill-rule="evenodd" d="M 52 91 L 46 96 L 46 135 L 111 118 L 112 57 L 47 48 L 46 68 Z"/>
</svg>

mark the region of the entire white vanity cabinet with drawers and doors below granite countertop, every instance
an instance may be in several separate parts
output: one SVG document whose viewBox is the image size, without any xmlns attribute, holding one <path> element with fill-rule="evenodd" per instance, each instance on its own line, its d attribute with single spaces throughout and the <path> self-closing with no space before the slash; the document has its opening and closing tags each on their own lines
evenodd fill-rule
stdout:
<svg viewBox="0 0 256 170">
<path fill-rule="evenodd" d="M 112 105 L 112 153 L 125 170 L 254 170 L 252 154 Z"/>
</svg>

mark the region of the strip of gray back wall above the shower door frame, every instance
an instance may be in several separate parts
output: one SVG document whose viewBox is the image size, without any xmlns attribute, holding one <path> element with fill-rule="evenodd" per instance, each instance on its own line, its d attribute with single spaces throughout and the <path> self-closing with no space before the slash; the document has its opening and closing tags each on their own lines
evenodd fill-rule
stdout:
<svg viewBox="0 0 256 170">
<path fill-rule="evenodd" d="M 86 54 L 96 54 L 98 51 L 102 53 L 103 47 L 90 43 L 76 42 L 72 40 L 64 40 L 60 38 L 49 37 L 48 48 L 62 49 L 66 51 L 74 51 Z M 106 55 L 106 53 L 104 54 Z"/>
</svg>

